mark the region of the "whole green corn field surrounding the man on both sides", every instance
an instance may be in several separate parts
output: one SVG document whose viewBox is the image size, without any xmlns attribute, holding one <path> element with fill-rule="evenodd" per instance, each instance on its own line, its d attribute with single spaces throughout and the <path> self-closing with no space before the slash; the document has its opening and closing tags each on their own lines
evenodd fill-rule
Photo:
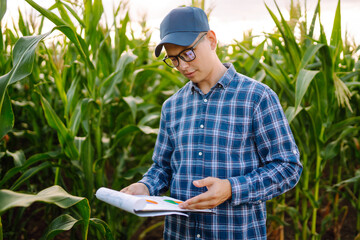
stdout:
<svg viewBox="0 0 360 240">
<path fill-rule="evenodd" d="M 0 24 L 0 240 L 161 236 L 161 218 L 128 214 L 94 193 L 146 172 L 161 105 L 187 80 L 154 57 L 145 20 L 134 35 L 127 2 L 110 25 L 101 0 L 49 9 L 25 1 L 37 21 L 19 11 L 15 29 Z M 276 30 L 256 44 L 244 33 L 217 52 L 278 94 L 300 150 L 299 184 L 267 203 L 268 238 L 358 240 L 360 44 L 342 37 L 340 0 L 330 36 L 320 0 L 312 13 L 291 1 L 289 19 L 264 5 Z M 0 0 L 0 23 L 5 12 Z"/>
</svg>

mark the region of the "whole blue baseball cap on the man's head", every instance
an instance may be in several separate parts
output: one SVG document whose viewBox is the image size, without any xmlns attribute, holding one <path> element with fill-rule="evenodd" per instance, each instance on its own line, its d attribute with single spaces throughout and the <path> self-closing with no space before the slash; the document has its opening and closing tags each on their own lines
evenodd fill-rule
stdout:
<svg viewBox="0 0 360 240">
<path fill-rule="evenodd" d="M 210 30 L 206 13 L 201 8 L 179 7 L 173 9 L 160 24 L 160 43 L 155 48 L 158 57 L 165 43 L 179 46 L 191 45 L 199 33 Z"/>
</svg>

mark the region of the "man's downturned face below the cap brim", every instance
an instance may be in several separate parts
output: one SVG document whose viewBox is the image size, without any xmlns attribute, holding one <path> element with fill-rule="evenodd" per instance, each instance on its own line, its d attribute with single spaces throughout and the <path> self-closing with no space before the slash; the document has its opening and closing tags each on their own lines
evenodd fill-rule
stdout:
<svg viewBox="0 0 360 240">
<path fill-rule="evenodd" d="M 174 44 L 165 44 L 164 47 L 166 49 L 166 53 L 168 56 L 177 56 L 179 53 L 192 47 L 196 42 L 203 36 L 204 34 L 200 34 L 196 40 L 187 47 L 178 46 Z M 186 62 L 178 57 L 179 66 L 176 68 L 179 70 L 181 74 L 183 74 L 186 78 L 191 80 L 194 83 L 199 83 L 201 81 L 206 80 L 209 74 L 209 70 L 211 67 L 209 66 L 209 61 L 207 61 L 207 57 L 210 57 L 210 47 L 208 46 L 207 36 L 200 40 L 200 42 L 194 48 L 194 53 L 196 55 L 195 59 L 191 62 Z"/>
</svg>

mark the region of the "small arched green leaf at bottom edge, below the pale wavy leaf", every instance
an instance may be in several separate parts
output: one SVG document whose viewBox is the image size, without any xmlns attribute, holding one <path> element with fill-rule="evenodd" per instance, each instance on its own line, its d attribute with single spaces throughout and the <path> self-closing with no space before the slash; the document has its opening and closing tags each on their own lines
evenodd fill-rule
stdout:
<svg viewBox="0 0 360 240">
<path fill-rule="evenodd" d="M 73 218 L 69 214 L 64 214 L 55 218 L 49 225 L 49 229 L 45 234 L 45 239 L 52 239 L 59 233 L 70 230 L 78 222 L 79 220 Z"/>
</svg>

